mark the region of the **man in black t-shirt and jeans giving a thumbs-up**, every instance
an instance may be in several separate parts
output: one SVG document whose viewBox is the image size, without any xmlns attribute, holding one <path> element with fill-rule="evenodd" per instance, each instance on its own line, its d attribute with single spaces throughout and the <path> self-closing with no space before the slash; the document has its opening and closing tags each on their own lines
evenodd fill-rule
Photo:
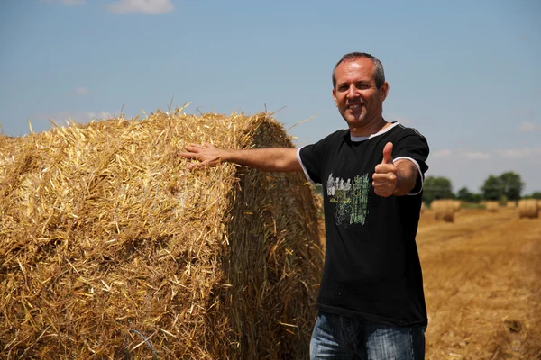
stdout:
<svg viewBox="0 0 541 360">
<path fill-rule="evenodd" d="M 426 305 L 415 237 L 428 145 L 387 122 L 380 60 L 344 55 L 333 98 L 347 123 L 303 148 L 231 150 L 190 145 L 191 168 L 221 161 L 263 171 L 304 171 L 323 185 L 326 261 L 310 358 L 423 359 Z M 394 159 L 393 159 L 394 157 Z"/>
</svg>

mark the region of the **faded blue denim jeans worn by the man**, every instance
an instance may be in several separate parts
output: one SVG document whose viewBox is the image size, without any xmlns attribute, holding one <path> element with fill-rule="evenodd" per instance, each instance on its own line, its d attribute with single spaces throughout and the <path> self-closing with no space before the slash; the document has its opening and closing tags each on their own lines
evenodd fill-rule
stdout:
<svg viewBox="0 0 541 360">
<path fill-rule="evenodd" d="M 319 311 L 310 360 L 422 360 L 425 326 L 395 327 Z"/>
</svg>

